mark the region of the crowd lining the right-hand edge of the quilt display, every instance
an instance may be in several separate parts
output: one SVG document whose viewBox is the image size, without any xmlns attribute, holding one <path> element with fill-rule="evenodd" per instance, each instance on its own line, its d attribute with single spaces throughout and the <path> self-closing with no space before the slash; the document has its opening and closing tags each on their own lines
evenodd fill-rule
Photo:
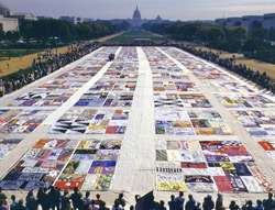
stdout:
<svg viewBox="0 0 275 210">
<path fill-rule="evenodd" d="M 275 93 L 275 81 L 272 80 L 270 76 L 266 75 L 266 73 L 261 74 L 258 70 L 255 71 L 250 67 L 246 67 L 245 64 L 237 64 L 234 55 L 231 58 L 221 58 L 221 53 L 213 53 L 211 51 L 204 51 L 201 48 L 196 49 L 184 44 L 175 44 L 174 46 L 191 53 L 198 57 L 218 64 L 219 66 L 227 68 L 228 70 L 233 71 Z"/>
</svg>

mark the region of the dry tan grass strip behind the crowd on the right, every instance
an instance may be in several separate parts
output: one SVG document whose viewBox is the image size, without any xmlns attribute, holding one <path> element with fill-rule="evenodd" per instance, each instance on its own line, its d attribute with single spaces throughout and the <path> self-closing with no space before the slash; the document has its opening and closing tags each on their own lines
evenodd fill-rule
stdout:
<svg viewBox="0 0 275 210">
<path fill-rule="evenodd" d="M 204 51 L 210 51 L 208 47 L 196 47 L 197 49 L 202 48 Z M 217 49 L 211 49 L 211 52 L 220 52 Z M 244 57 L 242 54 L 238 54 L 238 53 L 228 53 L 228 52 L 222 52 L 222 54 L 220 55 L 221 58 L 230 58 L 232 57 L 232 55 L 235 55 L 235 63 L 237 64 L 245 64 L 246 67 L 252 68 L 254 71 L 260 71 L 262 73 L 266 73 L 272 79 L 275 79 L 275 65 L 274 64 L 268 64 L 268 63 L 264 63 L 264 62 L 260 62 L 256 59 L 249 59 L 246 57 Z"/>
</svg>

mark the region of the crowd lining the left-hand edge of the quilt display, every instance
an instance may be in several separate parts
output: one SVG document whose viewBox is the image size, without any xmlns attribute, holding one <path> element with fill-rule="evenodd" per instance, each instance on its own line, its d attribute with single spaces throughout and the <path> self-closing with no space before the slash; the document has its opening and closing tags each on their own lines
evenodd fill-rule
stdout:
<svg viewBox="0 0 275 210">
<path fill-rule="evenodd" d="M 9 76 L 9 79 L 0 78 L 0 97 L 6 93 L 15 91 L 25 85 L 29 85 L 59 68 L 70 64 L 82 56 L 97 49 L 97 44 L 85 44 L 72 46 L 67 53 L 59 53 L 57 49 L 46 51 L 45 53 L 37 54 L 36 59 L 31 60 L 32 69 L 25 74 L 23 69 L 19 69 L 19 74 Z M 46 59 L 45 62 L 43 62 Z"/>
</svg>

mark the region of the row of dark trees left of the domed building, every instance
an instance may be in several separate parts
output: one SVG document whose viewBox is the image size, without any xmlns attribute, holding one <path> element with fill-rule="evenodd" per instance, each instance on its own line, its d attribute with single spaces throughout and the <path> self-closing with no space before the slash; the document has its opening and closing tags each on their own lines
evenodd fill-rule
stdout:
<svg viewBox="0 0 275 210">
<path fill-rule="evenodd" d="M 20 31 L 3 32 L 0 25 L 0 40 L 18 41 L 23 37 L 25 42 L 36 40 L 45 44 L 50 40 L 61 40 L 64 43 L 70 41 L 86 41 L 106 36 L 119 31 L 118 25 L 101 22 L 85 22 L 72 24 L 67 21 L 45 19 L 38 21 L 24 21 L 20 25 Z"/>
</svg>

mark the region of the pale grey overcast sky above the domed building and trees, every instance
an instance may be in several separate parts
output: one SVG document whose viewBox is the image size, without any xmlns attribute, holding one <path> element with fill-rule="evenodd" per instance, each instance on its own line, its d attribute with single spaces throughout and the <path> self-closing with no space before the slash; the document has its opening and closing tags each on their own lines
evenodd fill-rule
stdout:
<svg viewBox="0 0 275 210">
<path fill-rule="evenodd" d="M 217 18 L 275 13 L 275 0 L 0 0 L 16 12 L 59 18 L 132 18 L 139 5 L 142 19 L 160 14 L 169 20 L 215 20 Z"/>
</svg>

